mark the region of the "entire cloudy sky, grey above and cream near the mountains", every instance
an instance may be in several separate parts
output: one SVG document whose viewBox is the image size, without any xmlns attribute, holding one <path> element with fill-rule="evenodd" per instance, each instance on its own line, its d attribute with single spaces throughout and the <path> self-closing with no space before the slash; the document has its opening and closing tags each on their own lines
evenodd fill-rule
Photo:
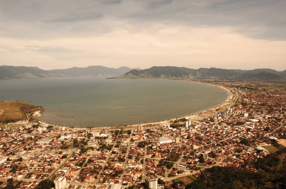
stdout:
<svg viewBox="0 0 286 189">
<path fill-rule="evenodd" d="M 285 0 L 0 0 L 0 65 L 286 69 Z"/>
</svg>

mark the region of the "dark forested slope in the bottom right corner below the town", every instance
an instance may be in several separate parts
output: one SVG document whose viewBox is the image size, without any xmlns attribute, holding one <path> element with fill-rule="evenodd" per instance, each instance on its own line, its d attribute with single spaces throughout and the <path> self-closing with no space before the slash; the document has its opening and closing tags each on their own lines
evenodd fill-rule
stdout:
<svg viewBox="0 0 286 189">
<path fill-rule="evenodd" d="M 258 172 L 214 166 L 186 188 L 286 188 L 285 155 L 283 149 L 258 159 L 255 163 Z"/>
</svg>

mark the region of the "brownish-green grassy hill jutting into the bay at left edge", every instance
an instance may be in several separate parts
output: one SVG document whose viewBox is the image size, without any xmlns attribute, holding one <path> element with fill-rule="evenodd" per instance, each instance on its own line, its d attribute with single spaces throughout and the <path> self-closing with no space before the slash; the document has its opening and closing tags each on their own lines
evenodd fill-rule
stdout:
<svg viewBox="0 0 286 189">
<path fill-rule="evenodd" d="M 27 120 L 27 115 L 42 107 L 21 101 L 0 101 L 0 123 Z"/>
</svg>

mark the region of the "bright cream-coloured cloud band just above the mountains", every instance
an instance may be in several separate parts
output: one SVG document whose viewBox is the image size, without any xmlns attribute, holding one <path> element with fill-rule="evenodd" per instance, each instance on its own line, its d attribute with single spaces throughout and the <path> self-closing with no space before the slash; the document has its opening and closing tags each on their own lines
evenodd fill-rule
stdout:
<svg viewBox="0 0 286 189">
<path fill-rule="evenodd" d="M 0 50 L 2 60 L 4 57 L 2 62 L 17 62 L 18 65 L 19 62 L 21 65 L 30 62 L 29 66 L 43 69 L 89 65 L 286 69 L 285 41 L 247 38 L 237 34 L 235 28 L 230 27 L 192 28 L 160 24 L 150 26 L 148 31 L 136 33 L 117 28 L 100 36 L 0 40 L 3 42 L 0 49 L 9 46 L 6 48 L 9 50 L 8 53 L 7 50 Z M 38 58 L 31 59 L 31 56 Z M 44 60 L 39 62 L 39 57 Z"/>
</svg>

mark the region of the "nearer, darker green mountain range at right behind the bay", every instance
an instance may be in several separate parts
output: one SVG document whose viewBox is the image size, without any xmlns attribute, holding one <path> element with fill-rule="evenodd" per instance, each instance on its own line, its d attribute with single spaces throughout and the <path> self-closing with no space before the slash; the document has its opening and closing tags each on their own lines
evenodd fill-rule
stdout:
<svg viewBox="0 0 286 189">
<path fill-rule="evenodd" d="M 112 77 L 119 78 L 198 78 L 198 79 L 228 79 L 228 80 L 286 80 L 286 70 L 274 69 L 220 69 L 199 68 L 191 69 L 175 66 L 153 66 L 148 69 L 130 70 L 122 75 Z"/>
</svg>

